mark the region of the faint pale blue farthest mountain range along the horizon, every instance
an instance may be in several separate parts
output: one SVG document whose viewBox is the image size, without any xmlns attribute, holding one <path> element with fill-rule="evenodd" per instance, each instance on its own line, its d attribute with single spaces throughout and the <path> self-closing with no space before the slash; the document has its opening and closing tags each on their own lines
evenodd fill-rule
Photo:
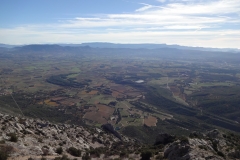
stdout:
<svg viewBox="0 0 240 160">
<path fill-rule="evenodd" d="M 184 50 L 200 50 L 200 51 L 220 51 L 220 52 L 234 52 L 240 53 L 240 49 L 237 48 L 204 48 L 204 47 L 188 47 L 180 45 L 167 45 L 167 44 L 120 44 L 120 43 L 104 43 L 104 42 L 92 42 L 92 43 L 81 43 L 81 44 L 57 44 L 59 46 L 69 46 L 69 47 L 83 47 L 89 46 L 92 48 L 130 48 L 130 49 L 159 49 L 159 48 L 175 48 L 175 49 L 184 49 Z M 8 45 L 0 44 L 0 47 L 4 48 L 14 48 L 21 47 L 24 45 Z"/>
</svg>

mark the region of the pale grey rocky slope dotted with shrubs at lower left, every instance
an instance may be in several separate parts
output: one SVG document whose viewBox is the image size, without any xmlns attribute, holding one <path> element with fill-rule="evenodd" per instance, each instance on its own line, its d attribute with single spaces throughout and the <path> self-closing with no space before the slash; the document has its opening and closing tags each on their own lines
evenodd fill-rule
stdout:
<svg viewBox="0 0 240 160">
<path fill-rule="evenodd" d="M 134 140 L 125 136 L 121 136 L 120 140 L 99 128 L 53 124 L 40 119 L 20 118 L 1 113 L 0 129 L 0 151 L 9 147 L 11 159 L 28 159 L 30 157 L 37 159 L 42 156 L 54 159 L 60 154 L 76 158 L 83 157 L 86 152 L 96 152 L 97 149 L 107 152 L 116 144 L 131 146 L 135 143 Z M 62 150 L 61 153 L 58 150 Z M 81 154 L 73 157 L 71 150 L 79 151 Z M 101 152 L 92 155 L 93 157 L 104 157 Z M 114 154 L 108 155 L 109 158 L 114 156 Z"/>
</svg>

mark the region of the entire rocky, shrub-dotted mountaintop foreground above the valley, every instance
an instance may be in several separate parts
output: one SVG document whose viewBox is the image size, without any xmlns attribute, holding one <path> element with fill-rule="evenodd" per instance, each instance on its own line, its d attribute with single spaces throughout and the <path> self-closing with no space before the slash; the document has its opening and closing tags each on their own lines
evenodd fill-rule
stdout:
<svg viewBox="0 0 240 160">
<path fill-rule="evenodd" d="M 188 137 L 160 133 L 149 146 L 106 132 L 106 128 L 53 124 L 0 113 L 0 160 L 240 159 L 240 138 L 232 133 L 212 130 Z"/>
</svg>

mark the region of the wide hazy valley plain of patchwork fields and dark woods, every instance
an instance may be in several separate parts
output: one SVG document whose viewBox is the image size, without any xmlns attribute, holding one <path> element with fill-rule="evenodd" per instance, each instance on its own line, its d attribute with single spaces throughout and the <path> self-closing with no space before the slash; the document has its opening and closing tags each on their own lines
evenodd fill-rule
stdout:
<svg viewBox="0 0 240 160">
<path fill-rule="evenodd" d="M 239 53 L 28 45 L 0 50 L 0 111 L 101 127 L 153 144 L 240 132 Z M 12 95 L 12 96 L 11 96 Z"/>
</svg>

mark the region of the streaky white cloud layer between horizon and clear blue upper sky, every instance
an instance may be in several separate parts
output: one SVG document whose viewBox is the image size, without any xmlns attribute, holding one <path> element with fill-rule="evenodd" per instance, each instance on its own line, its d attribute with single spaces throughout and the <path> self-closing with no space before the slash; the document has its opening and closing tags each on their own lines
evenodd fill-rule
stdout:
<svg viewBox="0 0 240 160">
<path fill-rule="evenodd" d="M 169 43 L 240 46 L 240 0 L 158 0 L 132 13 L 76 17 L 55 24 L 0 28 L 0 43 Z M 234 43 L 232 43 L 234 42 Z"/>
</svg>

